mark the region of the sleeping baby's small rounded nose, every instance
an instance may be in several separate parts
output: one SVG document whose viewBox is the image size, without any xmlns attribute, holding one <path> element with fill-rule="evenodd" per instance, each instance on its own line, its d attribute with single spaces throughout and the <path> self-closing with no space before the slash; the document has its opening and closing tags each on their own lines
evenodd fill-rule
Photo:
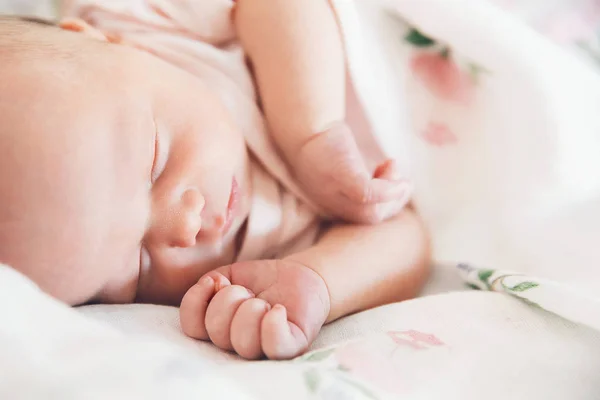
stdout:
<svg viewBox="0 0 600 400">
<path fill-rule="evenodd" d="M 181 194 L 179 204 L 170 214 L 170 237 L 167 240 L 172 247 L 191 247 L 196 244 L 196 236 L 202 227 L 200 213 L 204 208 L 204 197 L 198 189 L 190 188 Z"/>
</svg>

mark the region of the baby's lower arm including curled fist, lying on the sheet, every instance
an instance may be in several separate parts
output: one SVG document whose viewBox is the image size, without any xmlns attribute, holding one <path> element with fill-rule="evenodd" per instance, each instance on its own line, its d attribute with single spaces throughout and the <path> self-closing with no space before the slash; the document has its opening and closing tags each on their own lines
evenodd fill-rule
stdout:
<svg viewBox="0 0 600 400">
<path fill-rule="evenodd" d="M 283 260 L 205 275 L 181 303 L 183 331 L 253 359 L 304 352 L 321 326 L 414 297 L 428 271 L 428 239 L 410 209 L 374 226 L 338 225 Z"/>
</svg>

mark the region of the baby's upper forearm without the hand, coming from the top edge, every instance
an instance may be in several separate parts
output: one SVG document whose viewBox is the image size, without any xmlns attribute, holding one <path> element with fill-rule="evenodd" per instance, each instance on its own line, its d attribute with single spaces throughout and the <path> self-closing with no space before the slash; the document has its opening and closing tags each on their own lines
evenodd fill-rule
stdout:
<svg viewBox="0 0 600 400">
<path fill-rule="evenodd" d="M 235 24 L 287 158 L 344 121 L 345 57 L 327 0 L 238 0 Z"/>
</svg>

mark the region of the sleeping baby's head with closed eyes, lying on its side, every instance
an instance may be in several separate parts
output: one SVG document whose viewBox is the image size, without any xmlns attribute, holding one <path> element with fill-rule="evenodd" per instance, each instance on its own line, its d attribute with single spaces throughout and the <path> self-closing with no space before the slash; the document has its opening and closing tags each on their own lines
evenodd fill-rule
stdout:
<svg viewBox="0 0 600 400">
<path fill-rule="evenodd" d="M 196 78 L 78 22 L 0 19 L 0 59 L 0 262 L 70 303 L 131 301 L 239 228 L 243 137 Z"/>
</svg>

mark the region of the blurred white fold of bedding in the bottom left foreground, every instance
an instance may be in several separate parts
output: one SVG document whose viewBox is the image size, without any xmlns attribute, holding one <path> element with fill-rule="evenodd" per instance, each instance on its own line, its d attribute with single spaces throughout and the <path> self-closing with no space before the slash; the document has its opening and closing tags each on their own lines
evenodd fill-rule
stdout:
<svg viewBox="0 0 600 400">
<path fill-rule="evenodd" d="M 245 399 L 203 358 L 127 335 L 0 265 L 0 398 Z"/>
</svg>

